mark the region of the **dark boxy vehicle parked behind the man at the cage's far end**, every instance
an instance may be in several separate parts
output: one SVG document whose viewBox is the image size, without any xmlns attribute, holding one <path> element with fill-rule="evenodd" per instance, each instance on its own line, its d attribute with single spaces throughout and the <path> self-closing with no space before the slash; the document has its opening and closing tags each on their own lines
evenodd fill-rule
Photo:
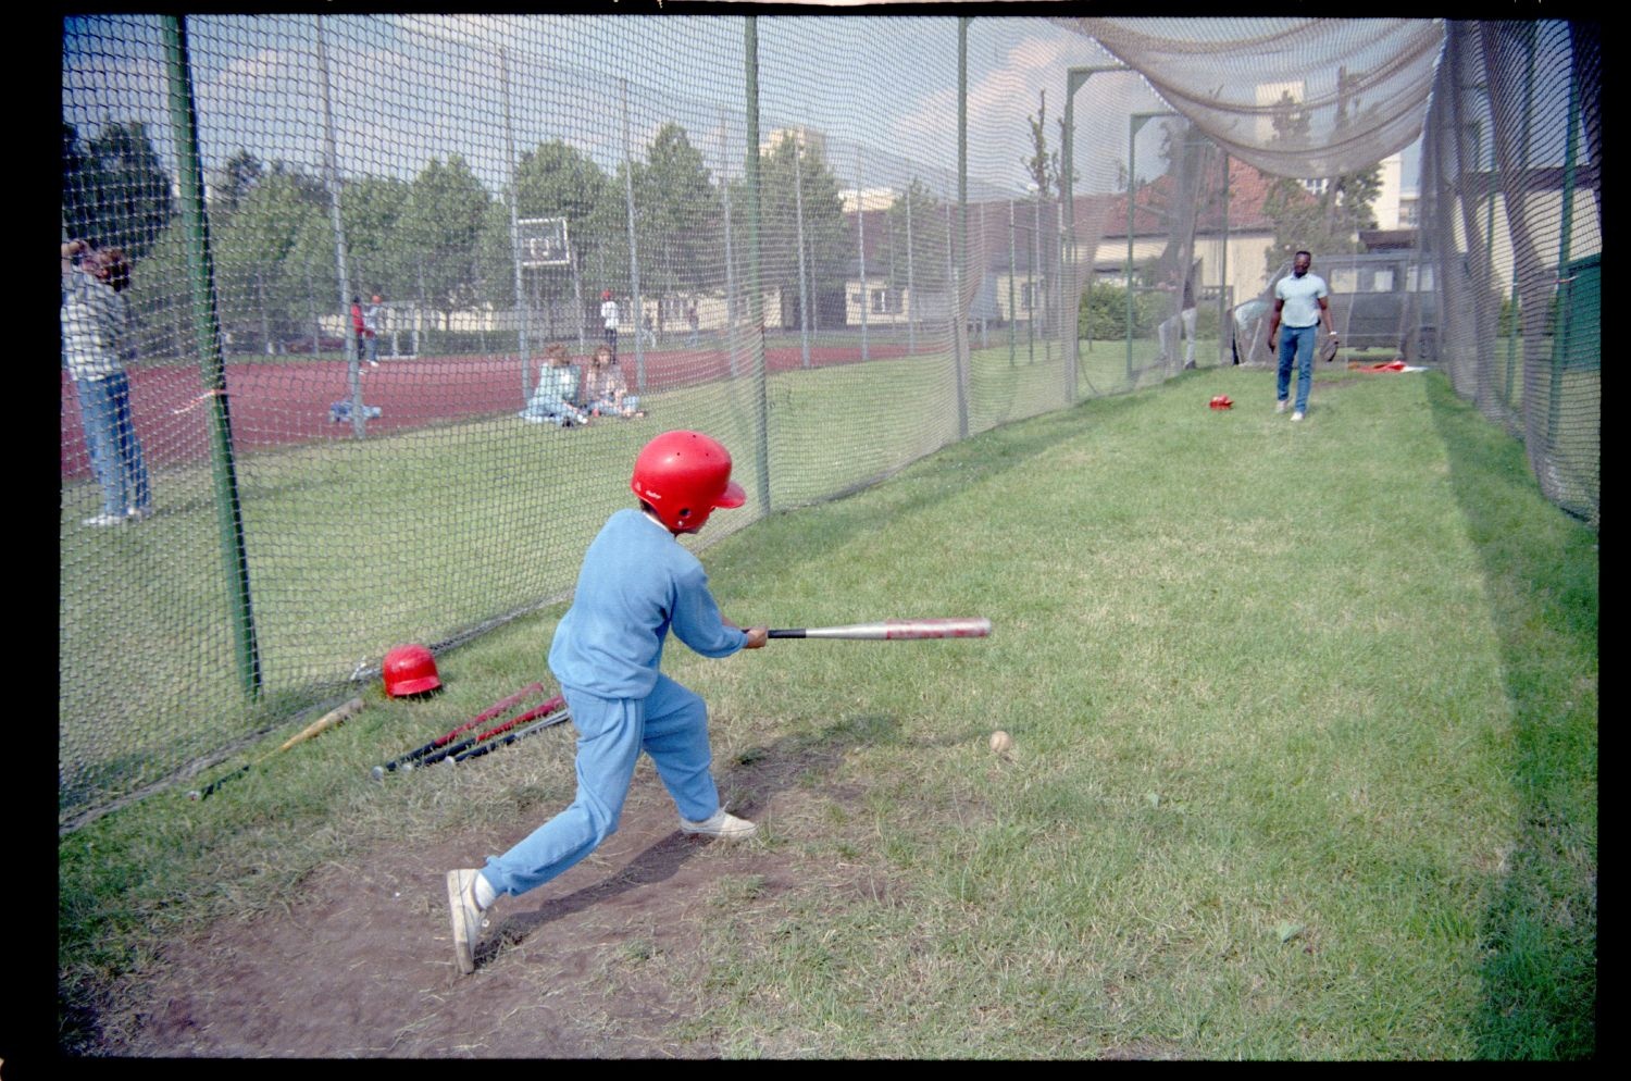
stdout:
<svg viewBox="0 0 1631 1081">
<path fill-rule="evenodd" d="M 1331 324 L 1344 349 L 1398 349 L 1406 364 L 1439 357 L 1439 293 L 1432 263 L 1416 251 L 1315 256 L 1331 289 Z M 1285 266 L 1275 276 L 1290 274 Z M 1269 297 L 1274 287 L 1269 287 Z"/>
</svg>

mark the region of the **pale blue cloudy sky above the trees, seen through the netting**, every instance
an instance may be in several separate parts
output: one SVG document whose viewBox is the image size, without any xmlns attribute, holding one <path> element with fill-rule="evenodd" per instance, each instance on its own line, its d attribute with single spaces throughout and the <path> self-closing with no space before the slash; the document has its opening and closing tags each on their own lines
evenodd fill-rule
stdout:
<svg viewBox="0 0 1631 1081">
<path fill-rule="evenodd" d="M 142 119 L 170 158 L 158 20 L 72 18 L 64 29 L 64 119 Z M 713 171 L 737 174 L 744 29 L 740 16 L 661 15 L 188 20 L 206 168 L 243 147 L 318 170 L 333 145 L 341 173 L 413 176 L 460 153 L 494 191 L 514 153 L 538 142 L 563 139 L 613 168 L 670 119 Z M 954 189 L 956 16 L 760 16 L 757 38 L 762 135 L 814 129 L 846 186 L 926 176 Z M 1026 191 L 1041 93 L 1057 150 L 1067 70 L 1114 59 L 1047 20 L 975 18 L 967 62 L 970 196 L 992 197 Z M 1127 116 L 1161 108 L 1137 73 L 1093 77 L 1075 103 L 1076 191 L 1112 189 Z M 1140 139 L 1138 173 L 1161 168 L 1158 139 Z M 1408 189 L 1414 173 L 1408 160 Z"/>
</svg>

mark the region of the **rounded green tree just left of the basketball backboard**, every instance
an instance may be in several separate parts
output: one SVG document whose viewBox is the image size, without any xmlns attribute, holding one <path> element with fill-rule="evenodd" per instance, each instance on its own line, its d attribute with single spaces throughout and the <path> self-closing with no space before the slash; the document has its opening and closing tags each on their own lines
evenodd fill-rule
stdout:
<svg viewBox="0 0 1631 1081">
<path fill-rule="evenodd" d="M 403 249 L 413 259 L 404 290 L 440 311 L 478 302 L 480 240 L 491 196 L 465 160 L 453 153 L 431 161 L 414 178 L 400 218 Z"/>
</svg>

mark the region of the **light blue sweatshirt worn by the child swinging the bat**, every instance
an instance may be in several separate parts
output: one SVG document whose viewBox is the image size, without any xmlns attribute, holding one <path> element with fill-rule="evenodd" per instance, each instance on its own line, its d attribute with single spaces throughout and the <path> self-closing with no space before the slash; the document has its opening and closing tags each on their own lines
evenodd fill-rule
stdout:
<svg viewBox="0 0 1631 1081">
<path fill-rule="evenodd" d="M 639 510 L 618 510 L 584 554 L 550 672 L 599 698 L 644 698 L 669 628 L 705 657 L 729 657 L 747 642 L 745 631 L 726 626 L 696 556 Z"/>
</svg>

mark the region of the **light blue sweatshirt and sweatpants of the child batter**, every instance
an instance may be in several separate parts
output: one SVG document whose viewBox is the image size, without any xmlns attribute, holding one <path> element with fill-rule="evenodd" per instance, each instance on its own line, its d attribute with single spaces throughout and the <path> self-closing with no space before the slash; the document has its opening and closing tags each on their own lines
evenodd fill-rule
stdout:
<svg viewBox="0 0 1631 1081">
<path fill-rule="evenodd" d="M 481 874 L 494 893 L 543 885 L 615 833 L 643 750 L 682 818 L 701 822 L 719 809 L 708 706 L 659 670 L 669 629 L 705 657 L 729 657 L 747 642 L 719 615 L 696 556 L 639 510 L 618 510 L 589 545 L 550 646 L 577 727 L 577 796 L 507 853 L 488 856 Z"/>
</svg>

